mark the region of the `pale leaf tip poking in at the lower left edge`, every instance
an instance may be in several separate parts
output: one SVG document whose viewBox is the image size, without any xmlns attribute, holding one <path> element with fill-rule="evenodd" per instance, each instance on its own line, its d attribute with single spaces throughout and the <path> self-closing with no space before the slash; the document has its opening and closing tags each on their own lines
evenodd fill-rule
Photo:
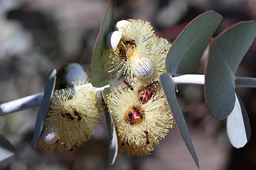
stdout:
<svg viewBox="0 0 256 170">
<path fill-rule="evenodd" d="M 0 162 L 16 154 L 16 148 L 2 135 L 0 135 Z"/>
</svg>

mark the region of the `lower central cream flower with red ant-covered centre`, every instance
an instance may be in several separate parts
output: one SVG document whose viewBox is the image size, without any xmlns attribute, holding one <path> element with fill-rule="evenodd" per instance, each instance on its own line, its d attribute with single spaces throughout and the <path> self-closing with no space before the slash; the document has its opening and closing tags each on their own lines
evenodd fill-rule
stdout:
<svg viewBox="0 0 256 170">
<path fill-rule="evenodd" d="M 117 130 L 119 155 L 148 155 L 166 137 L 169 129 L 174 128 L 174 119 L 161 88 L 155 86 L 151 97 L 143 102 L 139 91 L 145 86 L 142 81 L 137 81 L 133 90 L 121 85 L 108 95 L 108 108 Z"/>
</svg>

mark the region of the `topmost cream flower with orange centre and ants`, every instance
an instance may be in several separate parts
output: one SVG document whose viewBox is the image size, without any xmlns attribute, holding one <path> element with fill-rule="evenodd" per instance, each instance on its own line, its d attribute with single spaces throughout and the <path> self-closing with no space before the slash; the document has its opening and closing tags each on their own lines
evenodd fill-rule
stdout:
<svg viewBox="0 0 256 170">
<path fill-rule="evenodd" d="M 134 19 L 128 19 L 128 21 L 130 24 L 118 26 L 118 31 L 122 32 L 122 38 L 117 47 L 104 50 L 102 53 L 102 69 L 112 76 L 125 74 L 128 80 L 133 78 L 138 69 L 153 69 L 138 77 L 152 79 L 163 73 L 167 49 L 171 44 L 166 39 L 157 37 L 150 23 Z"/>
</svg>

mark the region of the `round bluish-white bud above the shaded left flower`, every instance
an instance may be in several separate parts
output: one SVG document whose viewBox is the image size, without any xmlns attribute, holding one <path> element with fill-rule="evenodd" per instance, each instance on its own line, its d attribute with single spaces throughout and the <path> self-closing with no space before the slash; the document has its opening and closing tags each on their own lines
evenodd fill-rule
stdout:
<svg viewBox="0 0 256 170">
<path fill-rule="evenodd" d="M 87 80 L 88 80 L 88 75 L 85 73 L 84 70 L 78 69 L 78 68 L 69 70 L 66 75 L 66 83 L 68 87 L 74 86 L 72 82 L 76 82 L 76 83 L 79 83 L 79 81 L 87 82 Z"/>
</svg>

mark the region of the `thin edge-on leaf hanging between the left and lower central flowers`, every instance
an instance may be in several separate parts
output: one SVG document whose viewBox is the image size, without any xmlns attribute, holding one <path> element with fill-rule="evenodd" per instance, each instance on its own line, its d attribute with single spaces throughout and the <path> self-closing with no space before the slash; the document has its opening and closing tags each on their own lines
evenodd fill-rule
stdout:
<svg viewBox="0 0 256 170">
<path fill-rule="evenodd" d="M 110 94 L 110 88 L 105 88 L 104 91 L 102 91 L 103 99 L 106 103 L 107 100 L 107 94 Z M 110 113 L 106 111 L 106 120 L 109 127 L 109 165 L 113 165 L 115 162 L 115 158 L 117 158 L 117 151 L 118 151 L 118 145 L 117 145 L 117 132 L 115 131 L 115 125 L 113 117 Z"/>
</svg>

